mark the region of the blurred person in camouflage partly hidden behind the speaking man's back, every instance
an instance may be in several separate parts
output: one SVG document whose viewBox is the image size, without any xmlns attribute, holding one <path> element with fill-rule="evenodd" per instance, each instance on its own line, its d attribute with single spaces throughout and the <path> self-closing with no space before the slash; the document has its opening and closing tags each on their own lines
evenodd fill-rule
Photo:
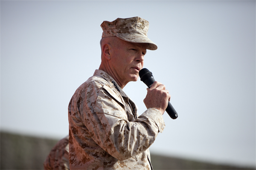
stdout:
<svg viewBox="0 0 256 170">
<path fill-rule="evenodd" d="M 44 170 L 70 170 L 68 136 L 52 148 L 44 161 Z"/>
</svg>

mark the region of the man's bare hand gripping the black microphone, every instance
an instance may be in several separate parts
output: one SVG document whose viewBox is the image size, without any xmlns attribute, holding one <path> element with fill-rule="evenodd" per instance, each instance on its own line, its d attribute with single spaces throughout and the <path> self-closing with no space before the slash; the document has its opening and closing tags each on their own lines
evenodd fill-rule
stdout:
<svg viewBox="0 0 256 170">
<path fill-rule="evenodd" d="M 169 91 L 166 90 L 165 85 L 155 81 L 150 88 L 147 88 L 147 95 L 143 100 L 147 108 L 156 108 L 162 115 L 167 108 L 168 101 L 171 99 Z"/>
</svg>

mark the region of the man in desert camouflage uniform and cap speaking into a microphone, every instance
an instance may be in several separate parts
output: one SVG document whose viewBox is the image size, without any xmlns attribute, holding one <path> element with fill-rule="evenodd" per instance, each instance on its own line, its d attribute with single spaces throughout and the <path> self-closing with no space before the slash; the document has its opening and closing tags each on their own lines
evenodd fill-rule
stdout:
<svg viewBox="0 0 256 170">
<path fill-rule="evenodd" d="M 137 81 L 146 50 L 157 45 L 147 37 L 148 21 L 140 17 L 101 24 L 99 70 L 75 92 L 69 104 L 70 170 L 150 170 L 150 153 L 165 124 L 163 113 L 170 95 L 154 82 L 137 107 L 122 90 Z"/>
</svg>

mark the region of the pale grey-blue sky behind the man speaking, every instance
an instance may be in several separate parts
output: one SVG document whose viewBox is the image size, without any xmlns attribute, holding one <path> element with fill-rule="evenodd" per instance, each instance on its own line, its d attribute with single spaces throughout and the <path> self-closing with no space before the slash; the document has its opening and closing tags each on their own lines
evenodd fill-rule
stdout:
<svg viewBox="0 0 256 170">
<path fill-rule="evenodd" d="M 1 0 L 1 130 L 61 139 L 67 107 L 100 64 L 100 24 L 149 21 L 144 67 L 179 117 L 151 153 L 256 167 L 256 1 Z M 146 85 L 124 91 L 146 110 Z"/>
</svg>

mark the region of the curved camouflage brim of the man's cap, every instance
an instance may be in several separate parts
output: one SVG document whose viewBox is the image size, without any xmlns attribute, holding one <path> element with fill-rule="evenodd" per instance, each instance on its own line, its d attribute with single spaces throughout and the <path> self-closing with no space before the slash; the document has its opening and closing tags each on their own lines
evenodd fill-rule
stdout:
<svg viewBox="0 0 256 170">
<path fill-rule="evenodd" d="M 149 40 L 148 37 L 145 37 L 141 34 L 128 34 L 128 35 L 116 35 L 116 37 L 128 41 L 128 42 L 135 42 L 135 43 L 147 43 L 147 49 L 148 50 L 156 50 L 157 45 Z"/>
</svg>

